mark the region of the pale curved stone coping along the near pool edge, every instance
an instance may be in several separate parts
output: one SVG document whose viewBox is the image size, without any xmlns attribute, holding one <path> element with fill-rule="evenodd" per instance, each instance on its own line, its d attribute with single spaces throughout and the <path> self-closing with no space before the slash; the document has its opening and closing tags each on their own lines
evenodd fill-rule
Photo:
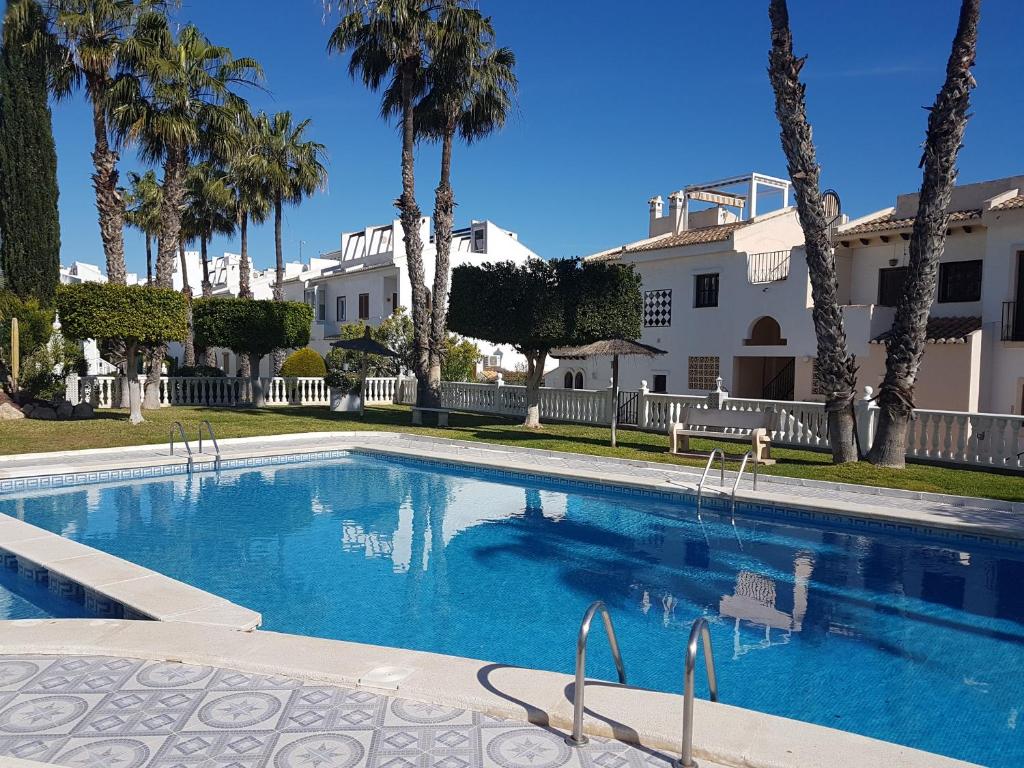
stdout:
<svg viewBox="0 0 1024 768">
<path fill-rule="evenodd" d="M 284 676 L 306 686 L 338 686 L 383 694 L 392 701 L 419 701 L 480 713 L 486 718 L 528 722 L 545 729 L 543 732 L 553 733 L 558 740 L 552 744 L 560 742 L 572 722 L 573 689 L 568 675 L 264 631 L 239 633 L 198 625 L 87 620 L 0 623 L 0 663 L 5 657 L 30 654 L 171 662 L 230 670 L 243 676 L 267 676 L 279 681 Z M 389 689 L 368 683 L 371 673 L 382 667 L 399 668 L 407 676 Z M 220 679 L 228 677 L 227 673 L 218 674 Z M 6 689 L 0 686 L 0 691 Z M 0 697 L 4 695 L 0 692 Z M 681 696 L 589 681 L 587 732 L 641 749 L 627 754 L 623 744 L 607 748 L 625 762 L 598 761 L 600 753 L 587 750 L 572 755 L 559 751 L 558 759 L 550 765 L 546 761 L 531 765 L 662 768 L 657 753 L 678 754 L 681 716 Z M 206 730 L 216 732 L 213 728 Z M 382 735 L 378 731 L 378 738 Z M 594 743 L 598 750 L 605 749 L 596 740 Z M 694 754 L 702 768 L 965 768 L 971 765 L 701 699 L 696 701 L 694 715 Z M 413 749 L 404 757 L 414 765 L 434 765 L 425 759 L 420 762 L 423 756 L 423 750 Z M 383 766 L 384 762 L 375 765 Z M 467 762 L 472 768 L 518 768 L 504 765 L 486 751 L 481 762 Z"/>
</svg>

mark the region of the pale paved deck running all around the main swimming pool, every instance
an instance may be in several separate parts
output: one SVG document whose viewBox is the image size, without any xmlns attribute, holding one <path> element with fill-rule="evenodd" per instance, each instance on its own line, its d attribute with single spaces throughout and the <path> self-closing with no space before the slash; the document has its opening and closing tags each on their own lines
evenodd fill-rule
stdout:
<svg viewBox="0 0 1024 768">
<path fill-rule="evenodd" d="M 220 450 L 226 469 L 269 468 L 280 462 L 301 461 L 306 455 L 326 458 L 332 452 L 335 452 L 333 455 L 338 455 L 336 452 L 354 450 L 427 459 L 450 466 L 543 474 L 577 483 L 627 485 L 690 499 L 699 478 L 699 471 L 692 468 L 397 433 L 336 432 L 225 439 L 220 442 Z M 193 459 L 197 471 L 213 470 L 212 456 L 194 456 Z M 125 482 L 170 474 L 180 475 L 185 471 L 185 466 L 186 457 L 181 453 L 169 456 L 166 446 L 155 445 L 0 457 L 0 493 L 28 497 L 68 486 L 87 487 L 98 482 Z M 727 474 L 728 488 L 732 486 L 733 477 L 731 473 Z M 798 514 L 803 514 L 800 512 L 803 510 L 808 517 L 841 515 L 846 519 L 859 520 L 881 532 L 922 527 L 945 531 L 974 542 L 1009 542 L 1011 546 L 1024 546 L 1024 505 L 1021 504 L 774 476 L 762 477 L 757 490 L 753 489 L 750 481 L 743 481 L 738 487 L 736 499 L 740 503 L 753 505 L 752 509 L 768 513 L 777 508 L 798 510 Z M 716 501 L 716 495 L 712 494 L 709 504 L 721 505 L 721 497 Z M 216 668 L 211 669 L 209 675 L 203 678 L 208 681 L 230 677 L 228 673 L 217 670 L 291 680 L 287 685 L 282 683 L 273 689 L 279 693 L 268 694 L 279 705 L 274 710 L 276 714 L 273 717 L 276 719 L 273 719 L 272 727 L 268 715 L 268 719 L 259 721 L 252 727 L 239 725 L 233 730 L 226 727 L 218 730 L 219 726 L 203 720 L 202 714 L 208 705 L 214 703 L 213 699 L 219 700 L 221 694 L 230 695 L 228 689 L 201 686 L 201 692 L 194 692 L 198 697 L 197 701 L 188 712 L 188 719 L 182 720 L 180 727 L 158 726 L 177 727 L 173 733 L 122 735 L 121 731 L 117 731 L 118 735 L 113 740 L 139 741 L 145 745 L 147 756 L 144 760 L 117 763 L 119 768 L 123 765 L 167 768 L 232 765 L 231 760 L 226 758 L 230 756 L 233 759 L 236 756 L 223 752 L 229 749 L 230 743 L 238 743 L 239 749 L 244 744 L 252 744 L 256 754 L 252 760 L 239 754 L 234 764 L 240 767 L 311 765 L 314 768 L 358 768 L 372 763 L 375 768 L 519 768 L 520 765 L 523 768 L 526 765 L 532 768 L 560 768 L 563 765 L 581 765 L 586 768 L 662 768 L 666 765 L 666 754 L 678 755 L 682 709 L 682 699 L 678 695 L 589 683 L 586 732 L 616 741 L 602 744 L 595 739 L 594 744 L 587 750 L 566 753 L 555 746 L 561 743 L 562 736 L 571 725 L 572 681 L 568 676 L 404 649 L 253 631 L 259 623 L 259 614 L 253 611 L 233 606 L 206 593 L 196 595 L 199 590 L 152 571 L 124 579 L 124 571 L 119 569 L 139 566 L 123 560 L 114 562 L 117 558 L 97 560 L 96 555 L 101 553 L 89 548 L 86 548 L 88 551 L 78 551 L 75 548 L 72 548 L 75 551 L 69 550 L 68 546 L 74 544 L 24 521 L 0 519 L 0 556 L 14 557 L 19 568 L 23 561 L 28 562 L 30 569 L 32 563 L 43 560 L 50 572 L 58 577 L 62 574 L 61 568 L 66 569 L 72 563 L 77 570 L 68 575 L 69 580 L 80 584 L 83 589 L 100 593 L 104 589 L 120 590 L 120 596 L 128 598 L 125 602 L 128 607 L 131 607 L 131 600 L 138 595 L 131 594 L 131 590 L 126 593 L 124 584 L 130 587 L 135 582 L 136 587 L 159 587 L 152 593 L 142 595 L 150 602 L 137 612 L 160 621 L 97 618 L 0 623 L 0 756 L 30 758 L 28 754 L 12 752 L 14 748 L 11 744 L 18 738 L 29 738 L 31 741 L 38 737 L 47 751 L 45 757 L 35 757 L 35 760 L 57 765 L 63 761 L 69 766 L 106 765 L 101 761 L 96 762 L 102 756 L 92 756 L 89 741 L 105 738 L 111 743 L 103 749 L 113 750 L 116 745 L 112 742 L 111 734 L 104 736 L 89 731 L 92 727 L 89 724 L 103 721 L 112 723 L 112 728 L 120 726 L 115 720 L 105 719 L 100 710 L 95 708 L 105 708 L 109 705 L 116 707 L 112 702 L 118 691 L 127 690 L 124 686 L 138 684 L 138 674 L 142 674 L 140 670 L 154 668 L 155 663 L 167 662 L 178 666 L 183 664 Z M 50 559 L 46 560 L 47 557 Z M 152 581 L 154 579 L 157 581 Z M 119 587 L 119 583 L 124 584 Z M 185 604 L 165 599 L 163 589 L 174 589 L 173 585 L 180 588 L 175 594 L 185 600 Z M 211 602 L 204 603 L 203 600 Z M 13 718 L 20 712 L 17 710 L 12 715 L 12 710 L 26 699 L 46 694 L 46 691 L 30 692 L 28 688 L 19 687 L 15 690 L 4 687 L 4 664 L 26 655 L 46 656 L 40 662 L 44 665 L 60 664 L 61 658 L 69 657 L 102 656 L 115 659 L 115 664 L 127 663 L 134 672 L 125 678 L 124 686 L 118 690 L 105 691 L 103 695 L 99 695 L 100 692 L 70 691 L 74 696 L 85 696 L 87 711 L 59 728 L 54 726 L 57 730 L 41 725 L 38 728 L 28 727 L 33 725 L 31 723 L 12 726 Z M 30 660 L 35 664 L 34 659 Z M 80 660 L 73 658 L 71 664 L 77 665 Z M 9 664 L 7 666 L 10 667 Z M 385 678 L 390 678 L 391 682 L 387 682 Z M 349 734 L 347 725 L 329 729 L 313 728 L 313 728 L 312 735 L 325 739 L 326 744 L 329 743 L 326 739 L 335 731 L 354 740 L 340 739 L 337 744 L 347 744 L 349 751 L 341 750 L 338 756 L 330 759 L 317 758 L 310 752 L 307 757 L 302 758 L 306 762 L 296 762 L 299 761 L 298 750 L 310 744 L 312 746 L 309 749 L 318 749 L 319 744 L 302 741 L 302 738 L 310 735 L 310 731 L 293 727 L 287 720 L 285 713 L 291 712 L 288 707 L 294 703 L 290 696 L 302 687 L 295 681 L 301 681 L 303 686 L 327 685 L 338 688 L 325 691 L 325 695 L 334 697 L 332 700 L 351 698 L 353 690 L 373 692 L 380 699 L 380 710 L 385 713 L 381 715 L 384 720 L 379 727 L 371 729 L 371 733 L 364 733 L 361 736 Z M 34 683 L 29 679 L 26 685 Z M 256 687 L 246 690 L 256 691 Z M 287 696 L 281 691 L 287 692 Z M 727 691 L 723 691 L 723 696 L 728 701 Z M 268 698 L 255 698 L 267 707 L 274 707 Z M 412 741 L 404 748 L 397 748 L 398 752 L 410 751 L 408 754 L 389 752 L 395 744 L 382 745 L 381 739 L 384 736 L 381 734 L 389 733 L 387 729 L 392 725 L 397 728 L 409 726 L 408 722 L 392 724 L 387 720 L 389 716 L 386 713 L 393 712 L 394 707 L 398 706 L 396 702 L 401 700 L 466 711 L 453 715 L 451 722 L 463 723 L 468 730 L 463 732 L 457 729 L 450 740 L 460 740 L 457 738 L 459 735 L 468 736 L 475 739 L 476 746 L 473 749 L 476 752 L 469 753 L 469 757 L 450 756 L 442 749 L 450 745 L 441 743 L 427 749 L 422 745 L 414 746 Z M 102 701 L 106 703 L 101 703 Z M 71 702 L 68 705 L 72 706 Z M 131 706 L 133 705 L 129 705 Z M 245 707 L 250 706 L 252 705 Z M 81 706 L 74 705 L 74 709 L 77 712 Z M 148 711 L 146 709 L 147 713 Z M 309 717 L 317 713 L 312 712 Z M 199 722 L 196 722 L 197 718 Z M 495 718 L 512 722 L 496 723 Z M 165 720 L 158 719 L 161 722 Z M 19 727 L 25 727 L 26 730 L 18 730 Z M 191 734 L 204 728 L 206 735 L 200 741 L 191 740 L 190 746 L 184 746 L 189 739 L 178 738 L 179 733 Z M 263 735 L 252 735 L 254 728 Z M 359 728 L 355 727 L 354 730 L 358 731 Z M 513 731 L 522 733 L 523 738 L 531 743 L 545 744 L 550 741 L 552 755 L 531 753 L 532 748 L 528 745 L 523 751 L 521 744 L 515 742 L 517 737 L 514 736 L 507 736 L 501 741 L 502 744 L 508 744 L 507 749 L 492 749 L 488 745 L 498 741 L 506 732 Z M 435 735 L 439 737 L 442 734 Z M 204 746 L 201 743 L 211 739 L 216 742 L 216 746 Z M 262 745 L 257 748 L 252 739 L 260 741 Z M 406 737 L 397 739 L 407 740 Z M 300 741 L 303 746 L 290 746 L 293 742 Z M 358 756 L 355 755 L 355 742 L 362 748 Z M 17 741 L 17 744 L 22 743 Z M 638 749 L 627 748 L 626 743 L 635 744 Z M 204 760 L 187 760 L 183 754 L 178 754 L 182 749 L 193 748 Z M 435 748 L 439 752 L 432 752 Z M 218 757 L 203 752 L 215 749 L 222 751 L 218 753 Z M 177 750 L 178 753 L 173 753 L 172 750 Z M 865 765 L 885 768 L 951 768 L 968 765 L 843 731 L 702 700 L 696 702 L 694 753 L 705 768 L 861 768 Z M 138 752 L 138 755 L 141 754 Z M 435 754 L 437 757 L 433 759 Z M 530 754 L 532 758 L 527 757 Z M 271 756 L 273 761 L 270 760 Z M 527 762 L 521 762 L 520 759 Z M 0 757 L 0 766 L 5 764 L 4 760 L 5 758 Z M 316 760 L 319 762 L 315 762 Z M 464 761 L 465 765 L 460 761 Z"/>
</svg>

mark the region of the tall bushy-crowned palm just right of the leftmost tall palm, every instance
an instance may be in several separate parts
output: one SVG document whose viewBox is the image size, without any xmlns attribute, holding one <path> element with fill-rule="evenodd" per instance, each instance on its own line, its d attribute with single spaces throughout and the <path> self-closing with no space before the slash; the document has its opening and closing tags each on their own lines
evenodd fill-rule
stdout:
<svg viewBox="0 0 1024 768">
<path fill-rule="evenodd" d="M 255 59 L 236 58 L 213 45 L 195 26 L 175 39 L 167 17 L 142 14 L 133 43 L 123 51 L 127 71 L 112 92 L 113 111 L 122 140 L 137 141 L 142 159 L 163 166 L 164 199 L 160 210 L 156 285 L 170 288 L 174 257 L 181 246 L 181 211 L 185 173 L 197 155 L 227 154 L 231 126 L 248 110 L 234 92 L 255 85 L 262 68 Z M 145 406 L 156 408 L 165 350 L 151 355 Z"/>
</svg>

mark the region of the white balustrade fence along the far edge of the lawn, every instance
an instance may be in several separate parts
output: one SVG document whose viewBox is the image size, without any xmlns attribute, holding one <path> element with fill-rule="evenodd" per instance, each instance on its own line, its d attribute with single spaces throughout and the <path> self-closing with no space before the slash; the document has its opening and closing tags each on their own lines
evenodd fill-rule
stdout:
<svg viewBox="0 0 1024 768">
<path fill-rule="evenodd" d="M 327 406 L 330 388 L 319 378 L 263 379 L 266 403 L 270 407 Z M 251 401 L 250 382 L 237 378 L 164 377 L 160 380 L 161 406 L 232 407 Z M 367 403 L 416 402 L 415 378 L 368 378 Z M 69 397 L 94 408 L 119 408 L 121 380 L 116 376 L 87 376 L 77 388 L 69 384 Z M 870 444 L 878 421 L 878 408 L 870 401 L 870 389 L 855 407 L 861 445 Z M 480 414 L 519 417 L 526 413 L 526 388 L 495 384 L 441 382 L 445 408 Z M 776 445 L 828 449 L 827 415 L 821 402 L 791 402 L 729 397 L 726 392 L 707 396 L 662 394 L 642 389 L 637 406 L 640 429 L 667 432 L 681 420 L 684 408 L 722 408 L 730 411 L 775 414 L 771 433 Z M 608 425 L 611 422 L 610 390 L 543 388 L 540 392 L 542 421 Z M 743 430 L 736 430 L 742 436 Z M 1024 416 L 976 414 L 956 411 L 913 412 L 907 430 L 907 458 L 970 466 L 1024 469 Z"/>
</svg>

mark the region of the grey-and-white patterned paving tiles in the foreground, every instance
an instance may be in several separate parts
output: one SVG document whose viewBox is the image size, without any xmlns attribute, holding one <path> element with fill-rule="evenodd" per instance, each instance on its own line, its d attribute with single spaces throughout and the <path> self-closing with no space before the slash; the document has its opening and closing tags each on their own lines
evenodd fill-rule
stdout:
<svg viewBox="0 0 1024 768">
<path fill-rule="evenodd" d="M 0 758 L 68 768 L 670 768 L 525 723 L 282 676 L 0 656 Z"/>
</svg>

